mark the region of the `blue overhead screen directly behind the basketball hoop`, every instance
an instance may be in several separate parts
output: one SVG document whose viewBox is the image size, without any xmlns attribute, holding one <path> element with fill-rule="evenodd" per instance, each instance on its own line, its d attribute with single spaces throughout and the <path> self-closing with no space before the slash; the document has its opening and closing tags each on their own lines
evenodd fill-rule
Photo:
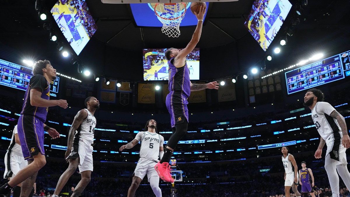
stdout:
<svg viewBox="0 0 350 197">
<path fill-rule="evenodd" d="M 197 25 L 198 20 L 196 16 L 192 14 L 190 9 L 191 3 L 186 2 L 185 4 L 186 4 L 187 11 L 180 23 L 180 27 Z M 205 4 L 207 4 L 207 11 L 208 11 L 209 2 L 206 2 Z M 155 6 L 155 3 L 130 4 L 131 12 L 134 16 L 137 26 L 143 26 L 143 27 L 162 27 L 163 26 L 159 18 L 155 15 L 154 6 Z M 181 12 L 184 12 L 184 10 L 182 10 Z M 207 16 L 207 12 L 204 15 L 204 19 L 205 19 L 205 16 Z"/>
</svg>

